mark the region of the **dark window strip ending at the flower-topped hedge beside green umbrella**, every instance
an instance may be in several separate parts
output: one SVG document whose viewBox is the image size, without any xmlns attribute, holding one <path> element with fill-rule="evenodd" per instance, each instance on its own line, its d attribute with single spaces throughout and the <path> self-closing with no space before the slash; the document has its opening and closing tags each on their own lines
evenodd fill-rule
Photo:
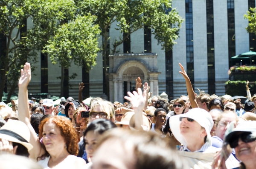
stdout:
<svg viewBox="0 0 256 169">
<path fill-rule="evenodd" d="M 233 66 L 231 62 L 231 57 L 236 55 L 234 0 L 227 0 L 227 31 L 228 31 L 228 59 L 229 59 L 229 67 L 231 67 Z"/>
</svg>

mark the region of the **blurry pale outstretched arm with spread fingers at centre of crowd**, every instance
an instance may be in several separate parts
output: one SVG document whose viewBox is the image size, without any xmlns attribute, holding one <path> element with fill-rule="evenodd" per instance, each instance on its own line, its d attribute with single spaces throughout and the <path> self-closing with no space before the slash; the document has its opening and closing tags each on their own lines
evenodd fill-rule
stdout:
<svg viewBox="0 0 256 169">
<path fill-rule="evenodd" d="M 134 123 L 135 123 L 135 129 L 139 131 L 143 130 L 143 107 L 146 103 L 147 99 L 147 91 L 144 90 L 142 93 L 141 89 L 138 88 L 138 93 L 133 92 L 127 92 L 128 96 L 125 96 L 125 99 L 131 102 L 132 108 L 134 109 Z"/>
</svg>

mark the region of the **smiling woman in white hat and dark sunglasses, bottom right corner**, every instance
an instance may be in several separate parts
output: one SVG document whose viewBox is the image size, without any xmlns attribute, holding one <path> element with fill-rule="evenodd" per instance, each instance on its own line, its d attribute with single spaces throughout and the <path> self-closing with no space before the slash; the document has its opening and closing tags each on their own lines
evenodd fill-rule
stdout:
<svg viewBox="0 0 256 169">
<path fill-rule="evenodd" d="M 226 142 L 231 148 L 236 150 L 236 158 L 241 163 L 240 166 L 233 169 L 255 169 L 256 166 L 256 121 L 241 121 L 236 128 L 226 137 Z M 217 168 L 220 155 L 213 162 L 212 168 Z M 224 163 L 221 169 L 226 169 Z"/>
</svg>

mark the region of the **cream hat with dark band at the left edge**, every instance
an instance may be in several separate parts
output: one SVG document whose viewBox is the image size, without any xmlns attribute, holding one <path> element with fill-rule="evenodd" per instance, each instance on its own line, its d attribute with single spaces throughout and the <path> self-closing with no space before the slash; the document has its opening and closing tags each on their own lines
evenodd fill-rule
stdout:
<svg viewBox="0 0 256 169">
<path fill-rule="evenodd" d="M 32 144 L 29 143 L 29 128 L 25 123 L 18 120 L 9 119 L 0 129 L 0 138 L 22 144 L 28 151 L 33 148 Z"/>
</svg>

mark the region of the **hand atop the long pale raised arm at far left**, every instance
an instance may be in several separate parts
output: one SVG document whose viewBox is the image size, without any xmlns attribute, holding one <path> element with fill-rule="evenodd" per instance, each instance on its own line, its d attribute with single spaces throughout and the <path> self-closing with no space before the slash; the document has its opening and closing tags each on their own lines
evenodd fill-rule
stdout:
<svg viewBox="0 0 256 169">
<path fill-rule="evenodd" d="M 30 63 L 25 63 L 24 68 L 20 70 L 19 87 L 27 87 L 31 80 Z"/>
</svg>

